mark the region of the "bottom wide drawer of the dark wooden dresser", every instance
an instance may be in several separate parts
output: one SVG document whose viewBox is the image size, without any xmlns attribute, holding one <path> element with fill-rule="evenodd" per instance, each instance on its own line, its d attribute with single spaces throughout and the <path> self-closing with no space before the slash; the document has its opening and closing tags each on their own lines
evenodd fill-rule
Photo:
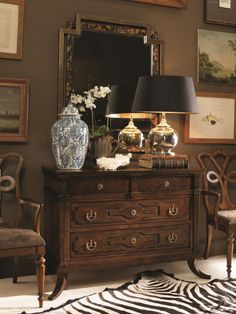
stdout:
<svg viewBox="0 0 236 314">
<path fill-rule="evenodd" d="M 71 258 L 88 255 L 125 254 L 155 251 L 160 248 L 189 248 L 190 226 L 166 228 L 135 228 L 94 232 L 70 233 Z"/>
</svg>

